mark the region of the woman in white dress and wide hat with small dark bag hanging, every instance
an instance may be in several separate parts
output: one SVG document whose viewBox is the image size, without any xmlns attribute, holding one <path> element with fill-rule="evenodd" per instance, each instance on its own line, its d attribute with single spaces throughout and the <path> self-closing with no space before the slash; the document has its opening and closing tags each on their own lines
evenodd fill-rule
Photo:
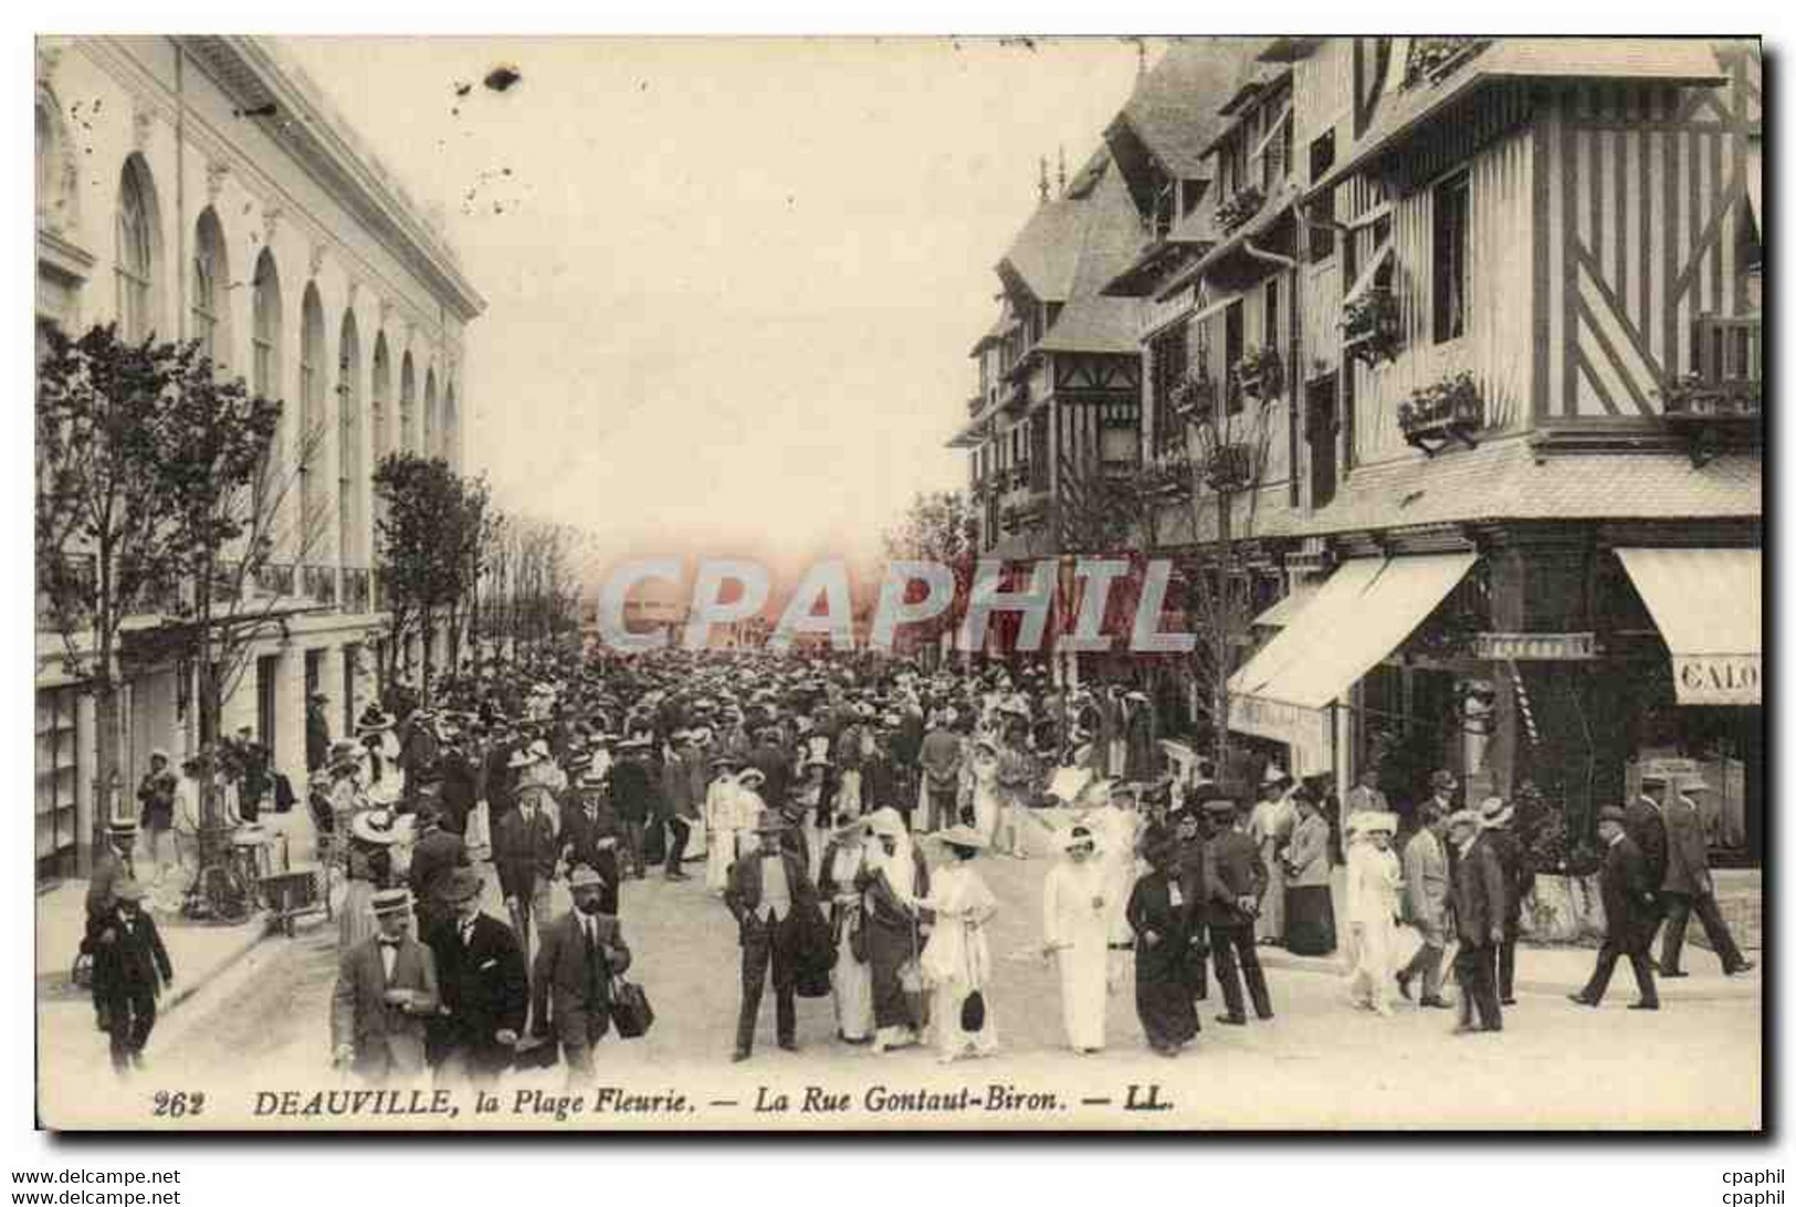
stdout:
<svg viewBox="0 0 1796 1207">
<path fill-rule="evenodd" d="M 948 862 L 936 869 L 929 893 L 914 903 L 936 912 L 920 963 L 923 982 L 934 991 L 929 1013 L 936 1053 L 946 1065 L 961 1056 L 999 1051 L 997 1020 L 991 1018 L 991 947 L 986 943 L 986 923 L 999 912 L 999 900 L 973 868 L 988 846 L 986 837 L 972 826 L 948 826 L 939 837 L 948 848 Z"/>
</svg>

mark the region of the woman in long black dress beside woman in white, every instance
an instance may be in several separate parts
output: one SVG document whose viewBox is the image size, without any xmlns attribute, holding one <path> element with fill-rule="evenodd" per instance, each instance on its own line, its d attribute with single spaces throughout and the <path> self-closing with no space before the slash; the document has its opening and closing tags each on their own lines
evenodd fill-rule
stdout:
<svg viewBox="0 0 1796 1207">
<path fill-rule="evenodd" d="M 1202 956 L 1198 909 L 1203 902 L 1202 868 L 1184 871 L 1178 842 L 1157 837 L 1144 851 L 1151 871 L 1135 882 L 1128 898 L 1128 923 L 1135 932 L 1135 1013 L 1148 1033 L 1148 1047 L 1162 1056 L 1198 1036 L 1198 1008 L 1189 968 Z"/>
</svg>

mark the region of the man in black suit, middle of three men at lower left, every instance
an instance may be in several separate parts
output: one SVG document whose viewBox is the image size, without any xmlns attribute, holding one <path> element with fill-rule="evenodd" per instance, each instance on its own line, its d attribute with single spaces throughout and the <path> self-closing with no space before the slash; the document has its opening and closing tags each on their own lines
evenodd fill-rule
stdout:
<svg viewBox="0 0 1796 1207">
<path fill-rule="evenodd" d="M 442 991 L 435 1056 L 449 1076 L 490 1087 L 510 1067 L 530 1015 L 524 948 L 510 927 L 481 912 L 472 868 L 453 868 L 438 893 L 453 914 L 426 936 Z"/>
</svg>

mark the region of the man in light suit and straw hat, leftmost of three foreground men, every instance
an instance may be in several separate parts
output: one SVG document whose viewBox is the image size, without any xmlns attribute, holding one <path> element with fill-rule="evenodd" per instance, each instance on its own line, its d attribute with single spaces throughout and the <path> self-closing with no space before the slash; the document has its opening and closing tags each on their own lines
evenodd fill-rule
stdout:
<svg viewBox="0 0 1796 1207">
<path fill-rule="evenodd" d="M 411 893 L 374 894 L 379 932 L 348 948 L 330 1004 L 334 1062 L 375 1085 L 424 1074 L 426 1020 L 440 1006 L 436 957 L 411 938 Z"/>
</svg>

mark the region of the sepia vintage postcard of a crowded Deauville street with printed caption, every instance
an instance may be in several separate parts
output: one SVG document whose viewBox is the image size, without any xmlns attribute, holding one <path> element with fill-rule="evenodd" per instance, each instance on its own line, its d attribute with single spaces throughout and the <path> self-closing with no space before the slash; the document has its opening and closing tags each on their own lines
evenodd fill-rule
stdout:
<svg viewBox="0 0 1796 1207">
<path fill-rule="evenodd" d="M 1762 1130 L 1764 126 L 41 36 L 40 1124 Z"/>
</svg>

